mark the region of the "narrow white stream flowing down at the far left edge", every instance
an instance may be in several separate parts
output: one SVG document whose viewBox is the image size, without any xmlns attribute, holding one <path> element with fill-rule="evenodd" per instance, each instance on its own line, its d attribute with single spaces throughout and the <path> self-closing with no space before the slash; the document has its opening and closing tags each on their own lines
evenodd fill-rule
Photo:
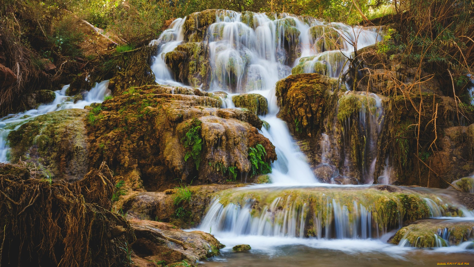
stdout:
<svg viewBox="0 0 474 267">
<path fill-rule="evenodd" d="M 84 108 L 86 105 L 92 103 L 102 103 L 104 97 L 110 95 L 108 89 L 109 80 L 96 83 L 92 89 L 86 93 L 84 100 L 74 103 L 74 99 L 66 96 L 66 90 L 69 85 L 63 86 L 61 90 L 55 91 L 56 98 L 53 102 L 41 104 L 37 109 L 31 109 L 18 114 L 9 114 L 0 119 L 0 162 L 7 162 L 9 159 L 9 143 L 8 135 L 11 131 L 18 130 L 18 128 L 34 119 L 39 115 L 46 114 L 52 111 L 58 111 L 70 108 Z"/>
</svg>

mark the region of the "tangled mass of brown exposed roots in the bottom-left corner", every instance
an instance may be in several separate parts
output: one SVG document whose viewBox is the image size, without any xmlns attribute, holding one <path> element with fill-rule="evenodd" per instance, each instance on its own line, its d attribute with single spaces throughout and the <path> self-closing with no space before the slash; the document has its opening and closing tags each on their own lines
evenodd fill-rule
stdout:
<svg viewBox="0 0 474 267">
<path fill-rule="evenodd" d="M 74 183 L 1 163 L 0 266 L 127 266 L 135 235 L 109 211 L 111 178 L 105 163 Z"/>
</svg>

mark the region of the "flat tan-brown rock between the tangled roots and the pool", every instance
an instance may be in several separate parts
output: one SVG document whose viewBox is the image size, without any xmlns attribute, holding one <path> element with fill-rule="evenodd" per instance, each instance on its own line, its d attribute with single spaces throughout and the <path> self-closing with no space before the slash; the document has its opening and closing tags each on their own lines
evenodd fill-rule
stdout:
<svg viewBox="0 0 474 267">
<path fill-rule="evenodd" d="M 139 257 L 154 262 L 194 263 L 200 259 L 219 255 L 222 245 L 214 236 L 202 231 L 183 231 L 164 222 L 130 219 L 137 240 L 132 244 Z"/>
</svg>

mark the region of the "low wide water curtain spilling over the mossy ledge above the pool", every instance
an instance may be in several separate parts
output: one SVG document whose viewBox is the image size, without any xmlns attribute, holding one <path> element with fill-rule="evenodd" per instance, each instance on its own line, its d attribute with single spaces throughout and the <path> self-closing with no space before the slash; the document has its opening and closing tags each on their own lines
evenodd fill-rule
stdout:
<svg viewBox="0 0 474 267">
<path fill-rule="evenodd" d="M 211 201 L 200 229 L 212 229 L 225 236 L 367 239 L 382 238 L 384 234 L 403 226 L 405 208 L 394 196 L 380 195 L 380 199 L 365 199 L 362 197 L 364 194 L 378 194 L 370 187 L 344 191 L 337 187 L 234 189 L 219 194 Z M 432 217 L 446 216 L 450 209 L 460 209 L 450 200 L 423 195 L 420 195 L 421 203 L 428 207 Z M 397 203 L 397 206 L 391 211 L 383 211 L 380 205 L 385 206 L 386 203 L 377 201 L 393 201 L 390 203 Z M 391 218 L 385 214 L 394 211 L 396 214 Z M 471 214 L 465 213 L 465 216 Z"/>
</svg>

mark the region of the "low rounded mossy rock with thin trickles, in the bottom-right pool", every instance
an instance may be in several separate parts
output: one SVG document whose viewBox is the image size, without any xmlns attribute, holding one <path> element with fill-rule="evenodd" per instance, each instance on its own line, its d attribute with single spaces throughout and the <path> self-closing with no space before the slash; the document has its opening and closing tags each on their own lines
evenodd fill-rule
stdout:
<svg viewBox="0 0 474 267">
<path fill-rule="evenodd" d="M 456 246 L 474 240 L 474 221 L 462 219 L 418 220 L 397 231 L 392 244 L 417 248 Z"/>
</svg>

